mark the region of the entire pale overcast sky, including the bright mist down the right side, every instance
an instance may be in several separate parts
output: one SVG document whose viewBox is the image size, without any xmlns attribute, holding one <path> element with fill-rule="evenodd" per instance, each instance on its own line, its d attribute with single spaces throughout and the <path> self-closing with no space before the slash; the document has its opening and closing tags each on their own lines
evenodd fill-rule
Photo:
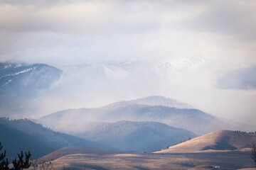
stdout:
<svg viewBox="0 0 256 170">
<path fill-rule="evenodd" d="M 255 123 L 255 16 L 254 0 L 0 1 L 0 62 L 169 62 L 154 94 Z"/>
</svg>

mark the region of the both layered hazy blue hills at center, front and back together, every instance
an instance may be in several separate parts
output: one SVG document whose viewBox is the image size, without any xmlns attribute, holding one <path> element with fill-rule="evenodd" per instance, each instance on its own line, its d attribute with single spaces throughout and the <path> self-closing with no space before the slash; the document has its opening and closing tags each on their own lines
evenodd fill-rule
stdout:
<svg viewBox="0 0 256 170">
<path fill-rule="evenodd" d="M 36 121 L 86 140 L 140 152 L 176 145 L 214 130 L 237 129 L 186 103 L 162 96 L 120 101 L 100 108 L 68 109 Z"/>
</svg>

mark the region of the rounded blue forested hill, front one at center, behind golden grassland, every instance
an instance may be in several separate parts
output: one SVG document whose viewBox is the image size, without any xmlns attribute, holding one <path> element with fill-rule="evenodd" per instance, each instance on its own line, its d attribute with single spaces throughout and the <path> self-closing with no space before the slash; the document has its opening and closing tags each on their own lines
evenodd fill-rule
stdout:
<svg viewBox="0 0 256 170">
<path fill-rule="evenodd" d="M 152 152 L 196 137 L 188 130 L 156 122 L 90 123 L 83 130 L 73 132 L 73 135 L 117 149 L 139 152 Z"/>
</svg>

